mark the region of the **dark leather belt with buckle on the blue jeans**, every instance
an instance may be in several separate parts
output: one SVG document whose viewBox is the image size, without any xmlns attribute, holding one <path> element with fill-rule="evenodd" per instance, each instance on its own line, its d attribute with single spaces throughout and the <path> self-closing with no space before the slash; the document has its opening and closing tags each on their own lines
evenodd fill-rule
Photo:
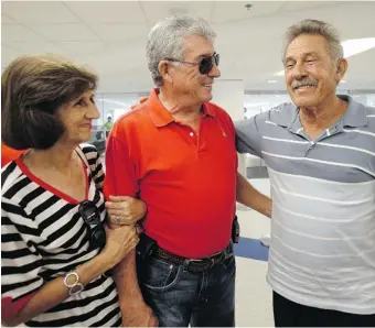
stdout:
<svg viewBox="0 0 375 328">
<path fill-rule="evenodd" d="M 186 269 L 190 272 L 204 272 L 216 264 L 223 263 L 226 259 L 233 256 L 233 247 L 232 244 L 229 244 L 225 250 L 221 251 L 219 253 L 197 260 L 179 256 L 159 247 L 154 250 L 153 255 L 171 264 L 186 264 Z"/>
</svg>

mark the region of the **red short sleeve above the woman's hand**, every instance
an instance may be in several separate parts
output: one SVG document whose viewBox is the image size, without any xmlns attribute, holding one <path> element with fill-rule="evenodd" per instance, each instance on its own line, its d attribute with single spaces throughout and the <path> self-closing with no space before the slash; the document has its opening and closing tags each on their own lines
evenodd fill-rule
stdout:
<svg viewBox="0 0 375 328">
<path fill-rule="evenodd" d="M 110 133 L 106 147 L 105 197 L 107 199 L 109 195 L 136 197 L 138 193 L 136 165 L 129 156 L 127 142 Z"/>
</svg>

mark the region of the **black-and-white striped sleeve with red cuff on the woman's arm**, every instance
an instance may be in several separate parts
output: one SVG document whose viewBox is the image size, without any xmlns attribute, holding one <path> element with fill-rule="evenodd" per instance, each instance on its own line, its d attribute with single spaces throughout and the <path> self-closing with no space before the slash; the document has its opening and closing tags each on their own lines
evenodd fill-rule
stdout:
<svg viewBox="0 0 375 328">
<path fill-rule="evenodd" d="M 32 242 L 38 231 L 19 205 L 1 198 L 2 318 L 15 315 L 44 283 L 40 275 L 43 260 Z"/>
</svg>

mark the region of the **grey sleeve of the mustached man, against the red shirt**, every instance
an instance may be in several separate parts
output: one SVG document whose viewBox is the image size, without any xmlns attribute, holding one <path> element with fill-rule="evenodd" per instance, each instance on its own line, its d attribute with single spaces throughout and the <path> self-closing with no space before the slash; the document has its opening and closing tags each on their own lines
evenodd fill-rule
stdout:
<svg viewBox="0 0 375 328">
<path fill-rule="evenodd" d="M 259 124 L 261 114 L 251 117 L 248 120 L 235 122 L 236 128 L 236 149 L 238 153 L 250 153 L 261 157 L 261 132 Z"/>
</svg>

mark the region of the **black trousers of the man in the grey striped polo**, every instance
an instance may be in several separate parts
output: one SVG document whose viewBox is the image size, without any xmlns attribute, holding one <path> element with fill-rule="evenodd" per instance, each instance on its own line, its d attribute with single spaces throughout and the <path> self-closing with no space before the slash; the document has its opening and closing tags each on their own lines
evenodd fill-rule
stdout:
<svg viewBox="0 0 375 328">
<path fill-rule="evenodd" d="M 274 292 L 276 327 L 374 327 L 374 315 L 354 315 L 291 302 Z"/>
</svg>

